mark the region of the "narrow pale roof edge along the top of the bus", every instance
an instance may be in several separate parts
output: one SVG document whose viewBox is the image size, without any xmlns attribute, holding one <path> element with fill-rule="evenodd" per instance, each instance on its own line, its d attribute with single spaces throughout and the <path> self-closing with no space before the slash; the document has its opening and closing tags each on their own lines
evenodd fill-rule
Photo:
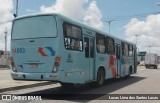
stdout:
<svg viewBox="0 0 160 103">
<path fill-rule="evenodd" d="M 132 44 L 132 45 L 135 45 L 134 43 L 132 42 L 129 42 L 127 40 L 123 40 L 121 38 L 118 38 L 114 35 L 111 35 L 109 33 L 106 33 L 102 30 L 99 30 L 97 28 L 94 28 L 92 26 L 89 26 L 88 24 L 85 24 L 84 22 L 80 22 L 76 19 L 73 19 L 73 18 L 70 18 L 70 17 L 67 17 L 67 16 L 64 16 L 62 14 L 59 14 L 59 13 L 37 13 L 37 14 L 29 14 L 29 15 L 25 15 L 25 16 L 20 16 L 20 17 L 17 17 L 15 18 L 13 21 L 17 20 L 17 19 L 21 19 L 21 18 L 26 18 L 26 17 L 33 17 L 33 16 L 45 16 L 45 15 L 54 15 L 54 16 L 58 16 L 59 18 L 63 19 L 63 20 L 66 20 L 66 22 L 68 21 L 69 23 L 73 23 L 74 25 L 77 25 L 77 26 L 80 26 L 82 28 L 86 28 L 86 29 L 89 29 L 91 31 L 94 31 L 94 32 L 97 32 L 97 33 L 100 33 L 100 34 L 103 34 L 105 36 L 109 36 L 109 37 L 112 37 L 112 38 L 115 38 L 117 40 L 120 40 L 122 42 L 126 42 L 126 43 L 129 43 L 129 44 Z"/>
</svg>

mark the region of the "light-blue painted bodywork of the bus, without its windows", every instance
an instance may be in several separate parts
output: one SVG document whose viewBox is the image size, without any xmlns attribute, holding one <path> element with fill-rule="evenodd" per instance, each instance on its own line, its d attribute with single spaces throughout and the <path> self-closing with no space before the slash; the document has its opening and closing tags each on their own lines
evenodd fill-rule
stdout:
<svg viewBox="0 0 160 103">
<path fill-rule="evenodd" d="M 133 56 L 122 55 L 121 42 L 123 40 L 110 36 L 119 44 L 120 57 L 117 59 L 116 45 L 115 54 L 113 55 L 107 52 L 104 54 L 97 52 L 96 34 L 105 33 L 61 15 L 55 14 L 54 20 L 55 26 L 53 28 L 55 30 L 54 33 L 56 33 L 54 37 L 13 39 L 11 41 L 11 56 L 14 59 L 17 70 L 15 72 L 15 68 L 12 68 L 11 74 L 13 79 L 84 84 L 86 82 L 96 81 L 97 72 L 100 68 L 104 68 L 105 70 L 105 79 L 128 75 L 130 66 L 132 67 L 132 73 L 135 73 L 136 66 L 134 66 L 135 61 L 133 61 Z M 83 38 L 82 50 L 69 50 L 65 47 L 64 24 L 66 22 L 72 26 L 81 28 Z M 88 50 L 89 57 L 86 57 L 85 40 L 88 40 L 89 45 L 94 44 L 94 57 L 90 57 L 90 47 Z M 135 45 L 133 47 L 134 49 L 136 48 Z M 60 57 L 59 67 L 57 72 L 53 72 L 55 58 L 57 56 Z"/>
</svg>

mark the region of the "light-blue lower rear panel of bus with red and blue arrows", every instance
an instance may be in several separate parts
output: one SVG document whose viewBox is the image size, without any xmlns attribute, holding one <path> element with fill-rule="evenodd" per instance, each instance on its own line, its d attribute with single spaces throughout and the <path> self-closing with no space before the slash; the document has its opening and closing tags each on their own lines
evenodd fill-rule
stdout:
<svg viewBox="0 0 160 103">
<path fill-rule="evenodd" d="M 17 72 L 52 72 L 57 52 L 57 40 L 54 38 L 41 38 L 12 42 L 12 58 L 15 61 Z"/>
</svg>

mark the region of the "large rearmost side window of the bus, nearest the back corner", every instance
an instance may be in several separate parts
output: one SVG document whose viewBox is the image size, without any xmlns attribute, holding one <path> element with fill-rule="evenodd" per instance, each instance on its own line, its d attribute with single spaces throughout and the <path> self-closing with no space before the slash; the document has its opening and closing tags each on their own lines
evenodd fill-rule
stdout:
<svg viewBox="0 0 160 103">
<path fill-rule="evenodd" d="M 80 27 L 64 23 L 64 45 L 68 50 L 83 50 L 82 30 Z"/>
</svg>

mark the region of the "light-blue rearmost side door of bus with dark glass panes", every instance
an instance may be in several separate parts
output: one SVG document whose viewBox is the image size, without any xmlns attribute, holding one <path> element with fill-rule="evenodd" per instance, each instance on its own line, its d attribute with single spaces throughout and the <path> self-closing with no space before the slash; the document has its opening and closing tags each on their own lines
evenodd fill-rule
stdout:
<svg viewBox="0 0 160 103">
<path fill-rule="evenodd" d="M 86 71 L 88 72 L 87 80 L 94 79 L 94 38 L 85 36 L 84 37 L 85 46 L 85 59 L 86 59 Z"/>
</svg>

